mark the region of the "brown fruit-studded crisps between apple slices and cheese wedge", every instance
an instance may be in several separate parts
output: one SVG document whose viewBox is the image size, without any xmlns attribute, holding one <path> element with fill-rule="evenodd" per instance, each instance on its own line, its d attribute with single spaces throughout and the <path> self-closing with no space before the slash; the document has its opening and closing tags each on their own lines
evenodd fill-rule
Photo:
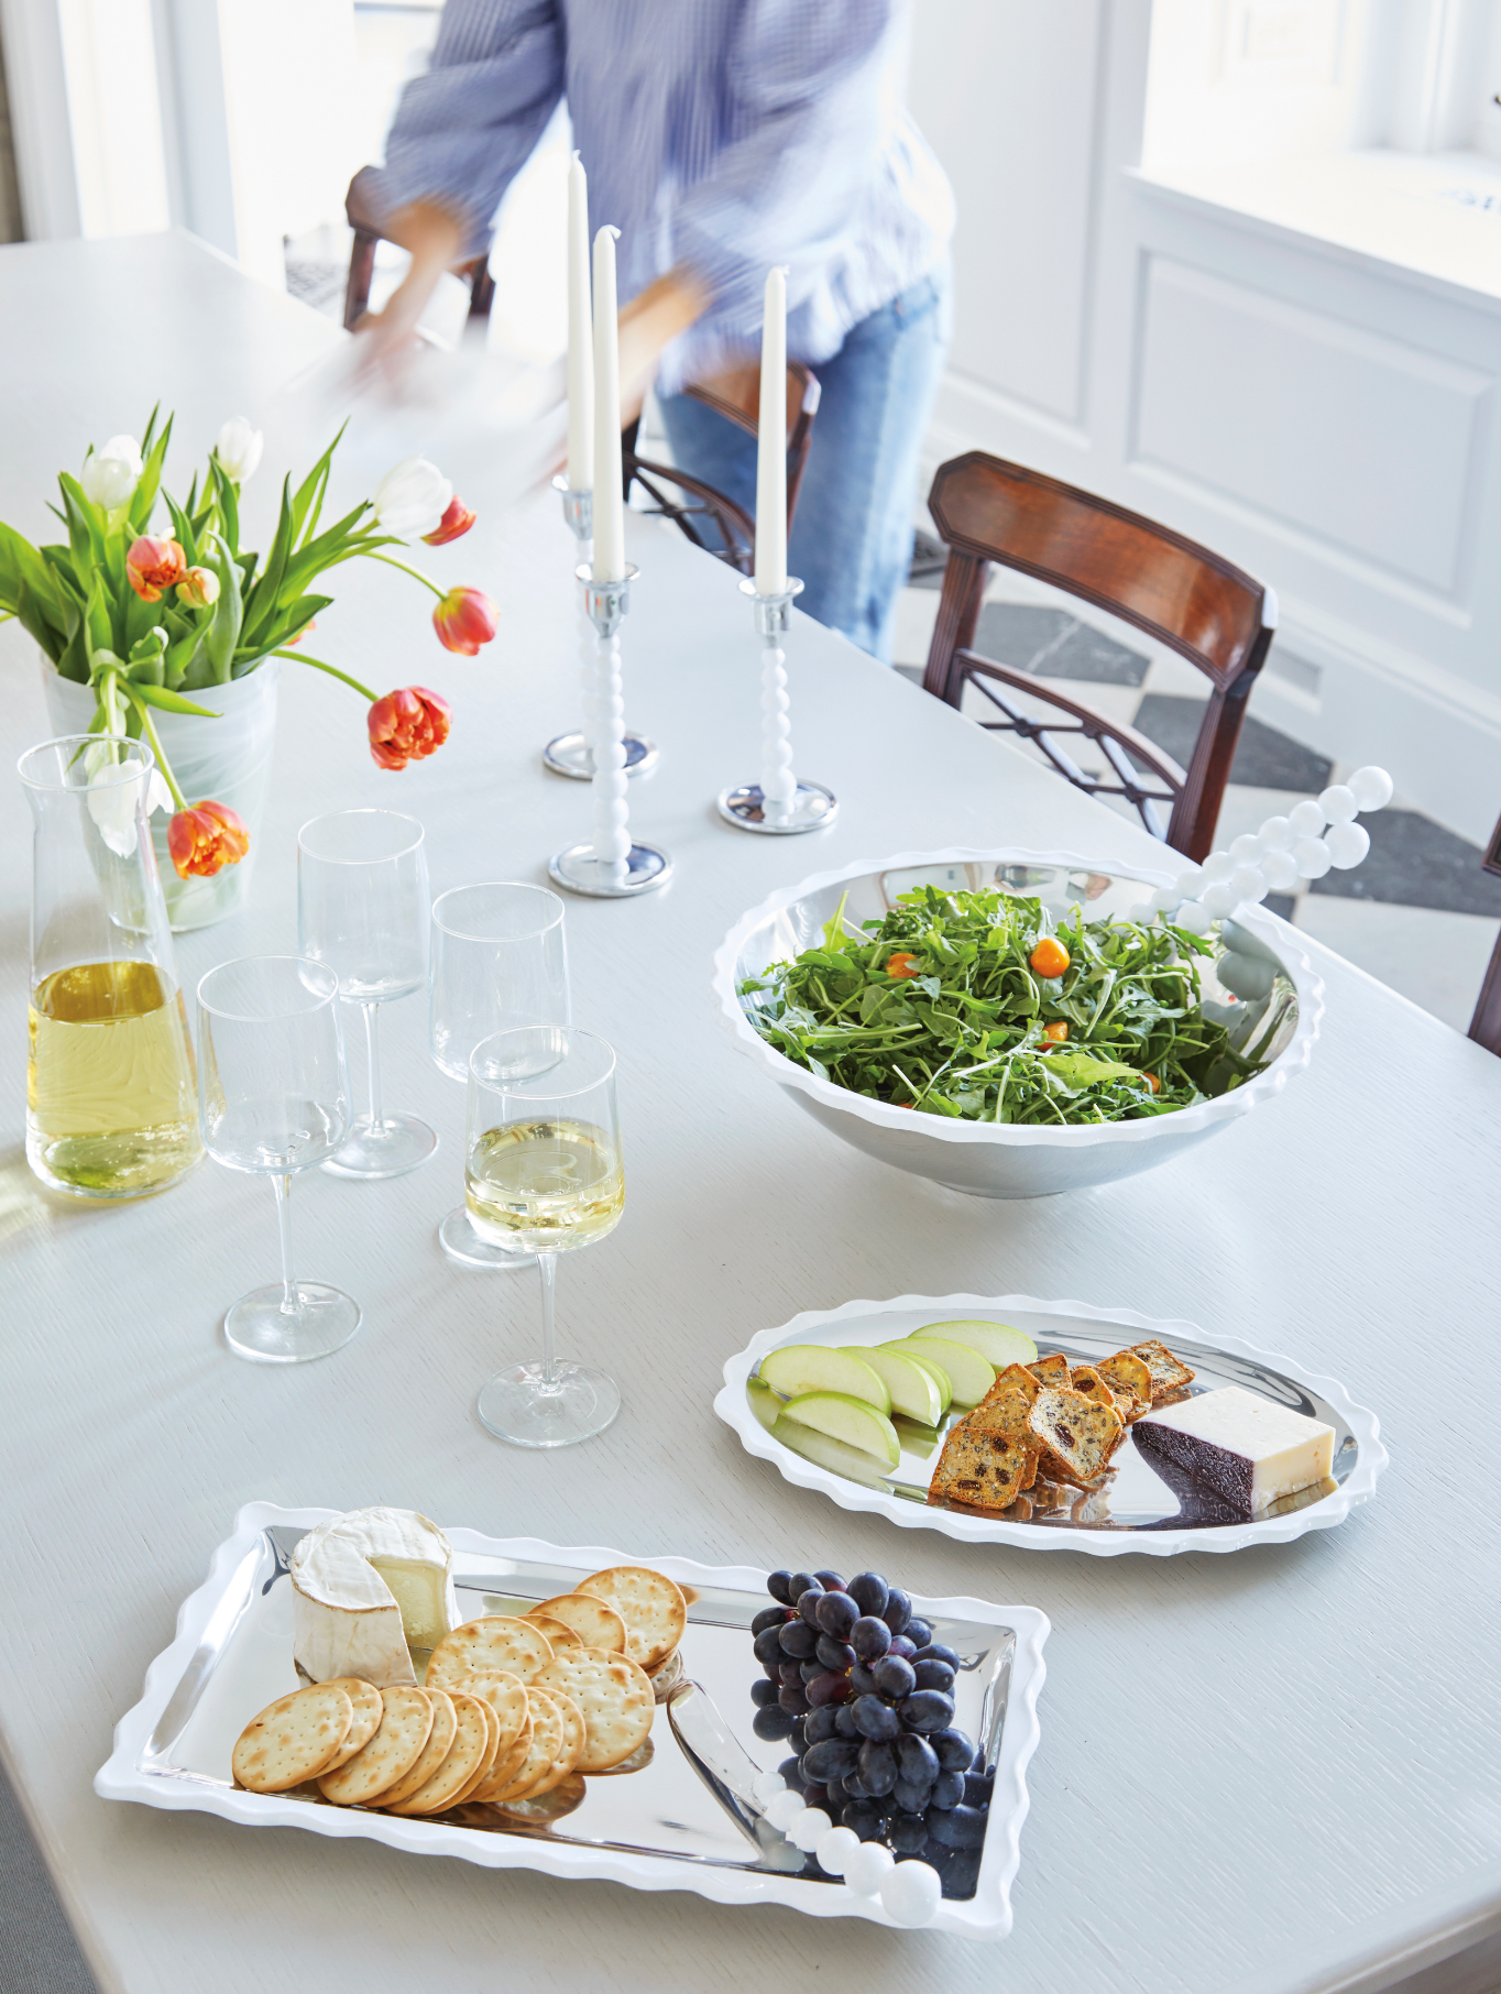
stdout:
<svg viewBox="0 0 1501 1994">
<path fill-rule="evenodd" d="M 1148 1340 L 1096 1364 L 1054 1354 L 1009 1364 L 943 1444 L 929 1501 L 1060 1507 L 1062 1490 L 1096 1490 L 1126 1428 L 1180 1394 L 1194 1372 Z M 1058 1499 L 1051 1499 L 1056 1492 Z"/>
</svg>

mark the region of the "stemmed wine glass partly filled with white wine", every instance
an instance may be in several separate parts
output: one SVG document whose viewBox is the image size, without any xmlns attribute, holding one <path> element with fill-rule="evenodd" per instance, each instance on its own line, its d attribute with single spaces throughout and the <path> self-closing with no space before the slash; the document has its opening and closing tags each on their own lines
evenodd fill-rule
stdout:
<svg viewBox="0 0 1501 1994">
<path fill-rule="evenodd" d="M 542 1356 L 496 1372 L 478 1416 L 518 1448 L 566 1448 L 620 1412 L 614 1378 L 552 1348 L 558 1254 L 612 1232 L 626 1206 L 616 1055 L 574 1025 L 522 1025 L 468 1059 L 464 1194 L 480 1238 L 536 1254 Z"/>
</svg>

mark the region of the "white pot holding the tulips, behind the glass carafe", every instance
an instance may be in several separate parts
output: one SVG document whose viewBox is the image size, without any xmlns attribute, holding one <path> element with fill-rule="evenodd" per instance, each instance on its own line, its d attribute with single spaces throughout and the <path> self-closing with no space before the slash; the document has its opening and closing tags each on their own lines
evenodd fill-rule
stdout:
<svg viewBox="0 0 1501 1994">
<path fill-rule="evenodd" d="M 245 678 L 227 686 L 199 686 L 183 698 L 209 706 L 221 720 L 195 714 L 151 714 L 161 752 L 171 762 L 177 788 L 189 804 L 211 798 L 239 812 L 251 843 L 239 865 L 225 865 L 213 879 L 179 879 L 167 853 L 167 814 L 151 818 L 151 843 L 167 897 L 167 915 L 177 933 L 209 927 L 235 913 L 249 893 L 251 867 L 261 841 L 265 800 L 271 794 L 271 752 L 277 734 L 277 684 L 281 664 L 267 658 Z M 84 734 L 94 720 L 94 688 L 58 678 L 42 658 L 48 718 L 58 734 Z"/>
</svg>

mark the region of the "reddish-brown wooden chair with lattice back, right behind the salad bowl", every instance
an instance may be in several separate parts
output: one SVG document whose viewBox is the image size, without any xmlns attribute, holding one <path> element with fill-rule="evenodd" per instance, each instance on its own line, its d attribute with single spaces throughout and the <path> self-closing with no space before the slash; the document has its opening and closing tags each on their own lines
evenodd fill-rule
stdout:
<svg viewBox="0 0 1501 1994">
<path fill-rule="evenodd" d="M 1246 698 L 1272 648 L 1274 592 L 1138 512 L 985 451 L 941 465 L 927 504 L 949 560 L 923 688 L 959 706 L 965 686 L 977 686 L 1003 716 L 983 726 L 1031 740 L 1088 796 L 1122 796 L 1154 837 L 1166 835 L 1194 863 L 1208 857 Z M 993 562 L 1094 602 L 1198 666 L 1212 690 L 1188 770 L 1134 728 L 971 648 Z M 1060 718 L 1029 718 L 997 686 Z M 1080 770 L 1062 746 L 1066 736 L 1094 742 L 1108 770 Z M 1158 804 L 1172 812 L 1166 833 Z"/>
</svg>

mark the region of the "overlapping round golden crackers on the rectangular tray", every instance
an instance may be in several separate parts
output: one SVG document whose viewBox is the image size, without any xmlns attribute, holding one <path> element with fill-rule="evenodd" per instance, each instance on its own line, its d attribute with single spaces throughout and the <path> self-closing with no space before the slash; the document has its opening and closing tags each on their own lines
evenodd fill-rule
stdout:
<svg viewBox="0 0 1501 1994">
<path fill-rule="evenodd" d="M 339 1677 L 279 1697 L 241 1733 L 235 1785 L 287 1793 L 315 1781 L 337 1807 L 439 1815 L 634 1771 L 630 1761 L 646 1763 L 654 1675 L 676 1661 L 686 1625 L 672 1579 L 612 1565 L 526 1615 L 454 1627 L 421 1689 Z"/>
</svg>

